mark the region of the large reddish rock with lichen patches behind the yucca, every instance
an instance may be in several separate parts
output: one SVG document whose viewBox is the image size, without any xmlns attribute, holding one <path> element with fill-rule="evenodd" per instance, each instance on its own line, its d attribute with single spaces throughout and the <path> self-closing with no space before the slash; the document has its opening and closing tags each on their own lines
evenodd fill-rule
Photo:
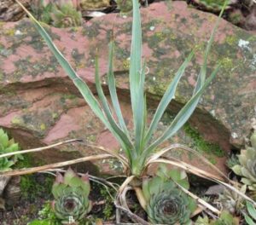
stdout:
<svg viewBox="0 0 256 225">
<path fill-rule="evenodd" d="M 192 94 L 203 60 L 202 51 L 217 17 L 189 9 L 184 2 L 153 3 L 141 12 L 143 55 L 149 68 L 148 107 L 154 109 L 178 66 L 192 49 L 197 49 L 170 105 L 170 110 L 177 113 Z M 117 142 L 90 111 L 30 21 L 0 26 L 0 126 L 8 129 L 23 147 L 77 137 L 118 149 Z M 125 119 L 132 126 L 127 74 L 131 17 L 108 14 L 78 29 L 47 29 L 92 90 L 95 89 L 96 48 L 104 81 L 108 69 L 108 41 L 113 29 L 115 76 Z M 255 50 L 255 36 L 221 20 L 208 61 L 208 75 L 218 63 L 222 69 L 189 122 L 208 141 L 217 143 L 227 152 L 231 147 L 241 147 L 244 136 L 250 133 L 250 120 L 256 117 Z M 67 146 L 61 150 L 74 154 L 59 154 L 56 149 L 42 154 L 48 162 L 53 162 L 71 159 L 77 153 L 95 153 L 85 148 Z"/>
</svg>

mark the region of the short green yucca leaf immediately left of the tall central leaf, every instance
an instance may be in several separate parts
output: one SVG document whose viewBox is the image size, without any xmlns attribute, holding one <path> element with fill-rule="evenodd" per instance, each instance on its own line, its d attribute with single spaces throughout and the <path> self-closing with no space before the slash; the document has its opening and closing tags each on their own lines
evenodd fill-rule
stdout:
<svg viewBox="0 0 256 225">
<path fill-rule="evenodd" d="M 108 54 L 108 61 L 109 61 L 108 62 L 108 89 L 109 89 L 113 109 L 119 120 L 119 124 L 122 130 L 124 130 L 126 136 L 129 136 L 129 131 L 127 130 L 127 127 L 125 125 L 125 120 L 123 118 L 123 115 L 119 106 L 119 99 L 116 93 L 115 80 L 113 77 L 113 49 L 114 49 L 114 43 L 112 40 L 109 43 L 109 54 Z"/>
</svg>

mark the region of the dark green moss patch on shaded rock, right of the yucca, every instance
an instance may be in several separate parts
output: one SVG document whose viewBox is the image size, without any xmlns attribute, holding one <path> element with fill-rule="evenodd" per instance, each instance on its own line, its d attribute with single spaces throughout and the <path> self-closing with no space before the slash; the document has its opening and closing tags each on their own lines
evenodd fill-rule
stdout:
<svg viewBox="0 0 256 225">
<path fill-rule="evenodd" d="M 193 129 L 189 124 L 185 124 L 183 127 L 185 133 L 191 137 L 194 141 L 194 147 L 201 153 L 207 153 L 209 155 L 215 155 L 217 157 L 224 157 L 225 153 L 224 150 L 221 149 L 217 144 L 208 142 L 202 138 L 200 133 Z M 210 158 L 210 161 L 213 160 Z"/>
</svg>

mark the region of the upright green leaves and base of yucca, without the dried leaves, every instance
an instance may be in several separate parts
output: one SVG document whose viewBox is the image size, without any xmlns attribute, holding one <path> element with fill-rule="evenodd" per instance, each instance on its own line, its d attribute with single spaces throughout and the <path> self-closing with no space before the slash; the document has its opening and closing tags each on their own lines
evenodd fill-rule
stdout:
<svg viewBox="0 0 256 225">
<path fill-rule="evenodd" d="M 29 13 L 28 13 L 29 14 Z M 128 176 L 140 177 L 143 175 L 146 165 L 149 162 L 150 156 L 154 150 L 160 146 L 160 144 L 166 141 L 177 133 L 183 124 L 187 122 L 191 114 L 195 111 L 195 107 L 201 99 L 203 91 L 207 89 L 207 86 L 212 82 L 212 79 L 218 72 L 219 65 L 213 70 L 209 78 L 206 78 L 207 73 L 207 57 L 212 44 L 212 37 L 207 44 L 207 50 L 204 57 L 204 64 L 201 67 L 201 72 L 195 90 L 191 99 L 185 104 L 177 116 L 173 119 L 172 124 L 166 129 L 166 131 L 157 139 L 153 139 L 154 131 L 157 129 L 157 125 L 160 122 L 160 118 L 165 113 L 166 107 L 172 101 L 175 95 L 177 84 L 180 78 L 183 76 L 186 66 L 191 61 L 194 51 L 190 53 L 188 58 L 183 62 L 176 72 L 172 83 L 166 89 L 166 93 L 160 101 L 159 106 L 156 109 L 154 118 L 149 126 L 146 123 L 147 118 L 147 104 L 144 92 L 145 82 L 145 68 L 146 63 L 142 62 L 142 29 L 141 18 L 139 13 L 139 4 L 136 0 L 133 0 L 133 26 L 132 26 L 132 41 L 131 41 L 131 66 L 130 66 L 130 90 L 131 90 L 131 107 L 133 113 L 134 124 L 134 141 L 131 140 L 131 133 L 126 127 L 125 120 L 122 116 L 118 96 L 116 93 L 115 81 L 113 77 L 113 40 L 109 44 L 109 64 L 108 64 L 108 88 L 111 95 L 111 101 L 113 105 L 112 113 L 108 104 L 107 98 L 103 93 L 102 85 L 99 76 L 98 59 L 96 58 L 96 89 L 99 96 L 99 101 L 90 91 L 88 85 L 77 75 L 68 61 L 61 55 L 61 52 L 56 48 L 52 42 L 49 34 L 44 30 L 37 20 L 34 19 L 32 14 L 29 14 L 38 32 L 42 35 L 45 42 L 48 44 L 49 49 L 55 55 L 63 69 L 67 72 L 69 78 L 73 80 L 73 83 L 77 86 L 80 93 L 83 95 L 84 100 L 89 104 L 90 108 L 96 116 L 102 120 L 102 123 L 110 130 L 113 136 L 119 141 L 120 146 L 125 151 L 125 157 L 119 156 L 119 160 L 126 167 Z M 215 29 L 212 33 L 215 32 Z M 113 118 L 113 114 L 117 115 L 117 120 Z M 109 153 L 109 152 L 108 152 Z M 114 154 L 117 157 L 116 154 Z"/>
</svg>

